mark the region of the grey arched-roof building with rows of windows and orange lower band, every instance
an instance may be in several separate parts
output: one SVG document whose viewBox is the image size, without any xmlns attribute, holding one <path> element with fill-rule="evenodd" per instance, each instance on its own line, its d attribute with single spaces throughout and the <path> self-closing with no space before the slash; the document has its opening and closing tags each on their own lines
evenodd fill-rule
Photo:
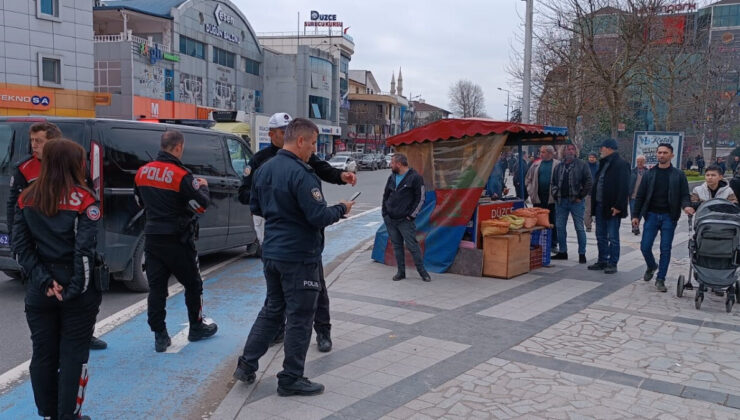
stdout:
<svg viewBox="0 0 740 420">
<path fill-rule="evenodd" d="M 94 9 L 99 116 L 207 119 L 262 110 L 264 55 L 228 0 L 116 0 Z"/>
</svg>

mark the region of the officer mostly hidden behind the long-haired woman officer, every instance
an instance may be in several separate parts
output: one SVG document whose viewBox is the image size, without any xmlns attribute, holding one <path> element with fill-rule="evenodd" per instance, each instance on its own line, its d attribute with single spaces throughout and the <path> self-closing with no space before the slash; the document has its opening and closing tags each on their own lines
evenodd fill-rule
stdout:
<svg viewBox="0 0 740 420">
<path fill-rule="evenodd" d="M 15 206 L 21 192 L 39 177 L 41 172 L 41 156 L 44 150 L 44 144 L 49 140 L 62 138 L 62 131 L 56 124 L 50 122 L 37 122 L 31 125 L 28 130 L 29 142 L 31 143 L 32 154 L 25 156 L 18 162 L 10 177 L 10 191 L 8 193 L 7 203 L 7 220 L 8 221 L 8 241 L 12 242 L 13 238 L 13 218 L 15 217 Z M 108 344 L 95 336 L 90 340 L 92 350 L 103 350 Z"/>
</svg>

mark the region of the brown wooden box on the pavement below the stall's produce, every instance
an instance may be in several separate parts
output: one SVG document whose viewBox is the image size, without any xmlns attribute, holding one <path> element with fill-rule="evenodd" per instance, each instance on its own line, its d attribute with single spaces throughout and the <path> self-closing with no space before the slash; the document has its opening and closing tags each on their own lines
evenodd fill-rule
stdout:
<svg viewBox="0 0 740 420">
<path fill-rule="evenodd" d="M 529 232 L 483 238 L 483 275 L 510 279 L 529 272 Z"/>
</svg>

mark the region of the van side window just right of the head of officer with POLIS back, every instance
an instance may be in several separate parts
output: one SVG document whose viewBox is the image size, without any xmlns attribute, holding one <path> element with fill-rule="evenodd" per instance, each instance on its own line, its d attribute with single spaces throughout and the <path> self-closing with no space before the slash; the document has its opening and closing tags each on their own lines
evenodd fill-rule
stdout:
<svg viewBox="0 0 740 420">
<path fill-rule="evenodd" d="M 185 151 L 182 163 L 196 175 L 228 176 L 226 157 L 220 136 L 183 132 Z"/>
</svg>

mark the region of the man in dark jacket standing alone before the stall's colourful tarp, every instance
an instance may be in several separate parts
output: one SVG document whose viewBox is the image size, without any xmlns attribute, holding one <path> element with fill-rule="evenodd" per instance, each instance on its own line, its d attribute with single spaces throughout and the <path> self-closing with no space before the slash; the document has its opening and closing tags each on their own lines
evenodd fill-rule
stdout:
<svg viewBox="0 0 740 420">
<path fill-rule="evenodd" d="M 432 281 L 424 268 L 421 248 L 416 241 L 416 224 L 414 219 L 424 205 L 424 179 L 413 168 L 409 168 L 406 155 L 395 153 L 391 158 L 391 171 L 383 192 L 383 221 L 388 229 L 388 236 L 393 244 L 398 272 L 394 281 L 406 278 L 406 256 L 403 245 L 406 244 L 414 265 L 421 279 Z"/>
</svg>

